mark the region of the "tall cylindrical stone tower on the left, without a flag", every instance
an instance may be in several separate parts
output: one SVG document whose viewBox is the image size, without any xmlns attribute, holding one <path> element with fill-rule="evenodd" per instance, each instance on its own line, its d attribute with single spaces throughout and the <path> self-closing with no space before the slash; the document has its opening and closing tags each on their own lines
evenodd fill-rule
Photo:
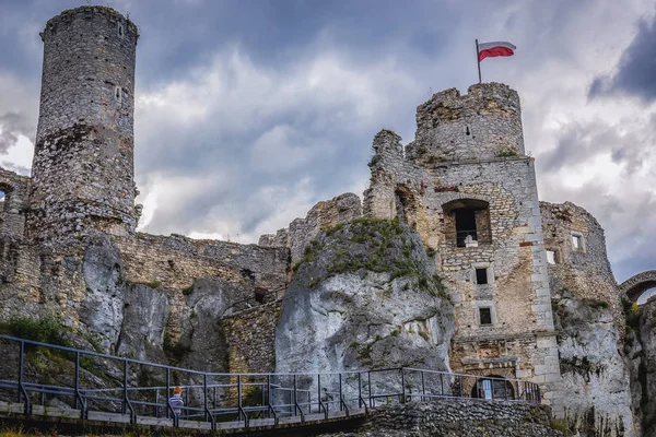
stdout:
<svg viewBox="0 0 656 437">
<path fill-rule="evenodd" d="M 27 234 L 39 240 L 134 229 L 137 26 L 106 7 L 50 19 Z"/>
</svg>

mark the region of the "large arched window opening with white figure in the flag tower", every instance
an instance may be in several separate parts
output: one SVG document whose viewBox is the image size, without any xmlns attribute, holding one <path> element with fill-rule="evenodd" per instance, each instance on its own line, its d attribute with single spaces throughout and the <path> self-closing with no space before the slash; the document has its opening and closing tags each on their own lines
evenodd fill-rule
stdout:
<svg viewBox="0 0 656 437">
<path fill-rule="evenodd" d="M 490 204 L 483 200 L 458 199 L 444 206 L 444 229 L 447 244 L 478 247 L 492 243 Z"/>
</svg>

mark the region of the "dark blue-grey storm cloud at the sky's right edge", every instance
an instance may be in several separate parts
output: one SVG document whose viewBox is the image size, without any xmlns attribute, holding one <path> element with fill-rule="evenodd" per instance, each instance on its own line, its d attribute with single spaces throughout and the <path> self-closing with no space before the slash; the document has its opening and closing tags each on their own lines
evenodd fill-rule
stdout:
<svg viewBox="0 0 656 437">
<path fill-rule="evenodd" d="M 589 96 L 625 93 L 645 101 L 656 99 L 656 15 L 641 21 L 635 37 L 620 58 L 617 72 L 597 76 Z"/>
</svg>

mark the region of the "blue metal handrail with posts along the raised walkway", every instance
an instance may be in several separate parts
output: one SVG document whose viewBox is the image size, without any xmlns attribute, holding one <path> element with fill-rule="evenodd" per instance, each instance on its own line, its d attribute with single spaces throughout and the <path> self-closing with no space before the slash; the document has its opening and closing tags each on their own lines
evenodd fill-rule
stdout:
<svg viewBox="0 0 656 437">
<path fill-rule="evenodd" d="M 0 335 L 0 345 L 7 342 L 19 346 L 19 373 L 15 380 L 8 378 L 0 380 L 0 392 L 15 392 L 17 401 L 24 404 L 25 414 L 32 413 L 32 395 L 39 394 L 42 405 L 45 404 L 46 397 L 71 399 L 72 406 L 80 411 L 82 418 L 86 418 L 90 411 L 116 412 L 118 409 L 122 414 L 129 414 L 130 422 L 134 423 L 138 415 L 159 417 L 160 412 L 165 411 L 166 417 L 173 418 L 174 426 L 179 425 L 179 418 L 186 418 L 207 422 L 211 429 L 216 429 L 216 423 L 230 418 L 231 415 L 248 427 L 249 421 L 257 417 L 272 418 L 274 424 L 278 424 L 279 417 L 283 415 L 297 416 L 301 422 L 305 422 L 308 414 L 315 413 L 328 417 L 330 411 L 342 411 L 350 416 L 356 409 L 364 406 L 366 411 L 380 405 L 380 402 L 403 403 L 408 400 L 477 398 L 530 404 L 541 402 L 540 388 L 534 382 L 481 375 L 452 374 L 412 367 L 317 374 L 225 374 L 167 366 Z M 30 376 L 25 374 L 26 346 L 73 353 L 72 382 L 57 386 L 30 381 Z M 117 369 L 120 369 L 118 371 L 122 374 L 122 380 L 117 387 L 83 387 L 82 356 L 116 363 Z M 166 385 L 137 385 L 133 381 L 133 371 L 141 366 L 165 370 Z M 187 394 L 187 401 L 181 409 L 183 417 L 175 415 L 168 402 L 172 373 L 185 375 L 185 378 L 192 382 L 181 385 Z M 96 380 L 107 383 L 112 379 Z M 194 383 L 194 380 L 198 383 Z M 484 390 L 484 387 L 488 390 Z M 257 394 L 258 390 L 260 394 Z M 163 399 L 160 397 L 162 392 L 164 392 Z M 194 395 L 190 397 L 190 392 Z M 256 393 L 255 398 L 258 399 L 253 398 L 251 393 Z M 109 403 L 109 406 L 106 406 L 106 403 Z M 142 414 L 144 412 L 147 413 Z"/>
</svg>

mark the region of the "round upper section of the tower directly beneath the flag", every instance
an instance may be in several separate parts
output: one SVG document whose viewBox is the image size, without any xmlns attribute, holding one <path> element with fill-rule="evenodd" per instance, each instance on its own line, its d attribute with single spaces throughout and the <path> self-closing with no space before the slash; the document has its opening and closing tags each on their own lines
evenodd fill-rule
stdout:
<svg viewBox="0 0 656 437">
<path fill-rule="evenodd" d="M 503 83 L 478 83 L 466 95 L 436 93 L 417 108 L 407 155 L 427 164 L 524 155 L 519 95 Z"/>
</svg>

